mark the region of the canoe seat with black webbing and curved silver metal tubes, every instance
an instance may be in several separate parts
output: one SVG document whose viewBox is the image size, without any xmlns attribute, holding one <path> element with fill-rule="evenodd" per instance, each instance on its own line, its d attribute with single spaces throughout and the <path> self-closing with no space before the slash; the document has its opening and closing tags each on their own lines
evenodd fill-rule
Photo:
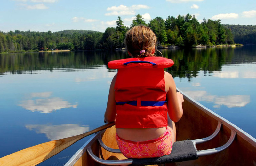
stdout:
<svg viewBox="0 0 256 166">
<path fill-rule="evenodd" d="M 141 165 L 154 165 L 154 164 L 164 164 L 164 163 L 171 163 L 171 162 L 181 162 L 187 160 L 195 160 L 200 156 L 204 155 L 211 155 L 218 152 L 221 152 L 228 148 L 233 140 L 235 139 L 236 132 L 231 130 L 231 135 L 227 143 L 222 145 L 218 148 L 207 149 L 207 150 L 197 150 L 196 144 L 203 143 L 209 140 L 212 140 L 220 131 L 221 122 L 218 123 L 218 126 L 215 132 L 212 133 L 209 137 L 203 139 L 196 139 L 196 140 L 184 140 L 184 141 L 177 141 L 174 142 L 172 146 L 172 152 L 170 155 L 165 155 L 162 157 L 156 158 L 143 158 L 143 159 L 123 159 L 123 160 L 103 160 L 95 156 L 92 152 L 91 147 L 87 148 L 88 154 L 92 157 L 93 160 L 105 165 L 133 165 L 133 166 L 141 166 Z M 112 149 L 107 147 L 101 140 L 101 137 L 98 137 L 98 141 L 104 149 L 108 150 L 109 152 L 113 153 L 121 153 L 119 149 Z"/>
</svg>

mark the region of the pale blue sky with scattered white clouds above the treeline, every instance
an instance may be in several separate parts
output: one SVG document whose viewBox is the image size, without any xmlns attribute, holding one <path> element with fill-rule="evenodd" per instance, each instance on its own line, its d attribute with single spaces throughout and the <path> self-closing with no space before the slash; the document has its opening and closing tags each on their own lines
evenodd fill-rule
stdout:
<svg viewBox="0 0 256 166">
<path fill-rule="evenodd" d="M 256 0 L 1 0 L 0 31 L 104 32 L 120 16 L 130 27 L 135 15 L 151 19 L 187 13 L 222 24 L 256 25 Z"/>
</svg>

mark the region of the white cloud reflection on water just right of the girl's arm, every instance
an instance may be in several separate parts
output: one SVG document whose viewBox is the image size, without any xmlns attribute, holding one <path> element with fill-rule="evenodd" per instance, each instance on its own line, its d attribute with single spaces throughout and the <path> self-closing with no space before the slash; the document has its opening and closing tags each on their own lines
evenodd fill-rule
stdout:
<svg viewBox="0 0 256 166">
<path fill-rule="evenodd" d="M 206 91 L 184 91 L 184 93 L 196 101 L 213 102 L 214 108 L 220 108 L 222 105 L 228 108 L 245 107 L 251 102 L 249 95 L 216 96 L 209 95 Z"/>
</svg>

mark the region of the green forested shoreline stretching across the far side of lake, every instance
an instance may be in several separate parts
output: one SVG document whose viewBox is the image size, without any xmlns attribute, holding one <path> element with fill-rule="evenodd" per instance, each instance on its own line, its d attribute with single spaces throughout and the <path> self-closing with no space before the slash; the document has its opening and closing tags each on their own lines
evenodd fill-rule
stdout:
<svg viewBox="0 0 256 166">
<path fill-rule="evenodd" d="M 47 50 L 97 50 L 124 47 L 125 33 L 133 26 L 149 26 L 156 34 L 159 46 L 174 45 L 193 47 L 196 45 L 214 46 L 241 43 L 256 43 L 249 31 L 239 33 L 243 28 L 237 25 L 222 25 L 220 20 L 203 19 L 201 23 L 195 16 L 187 14 L 166 19 L 156 17 L 145 23 L 140 14 L 135 16 L 130 27 L 123 24 L 121 17 L 116 20 L 116 27 L 108 27 L 104 33 L 86 30 L 65 30 L 60 32 L 31 32 L 15 30 L 0 31 L 0 53 L 5 52 L 38 52 Z M 250 26 L 256 34 L 256 26 Z M 235 33 L 234 33 L 235 32 Z M 247 37 L 243 38 L 244 36 Z M 248 40 L 251 39 L 252 40 Z M 234 39 L 236 39 L 234 41 Z M 239 41 L 239 42 L 236 42 Z M 247 42 L 247 43 L 248 43 Z"/>
</svg>

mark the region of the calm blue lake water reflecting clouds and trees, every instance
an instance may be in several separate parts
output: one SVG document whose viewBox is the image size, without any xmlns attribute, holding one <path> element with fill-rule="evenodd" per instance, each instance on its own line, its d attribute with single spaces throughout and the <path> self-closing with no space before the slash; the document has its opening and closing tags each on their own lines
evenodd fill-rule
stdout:
<svg viewBox="0 0 256 166">
<path fill-rule="evenodd" d="M 163 49 L 176 86 L 256 138 L 256 47 Z M 124 51 L 0 54 L 0 157 L 104 124 Z M 89 137 L 39 164 L 63 165 Z"/>
</svg>

